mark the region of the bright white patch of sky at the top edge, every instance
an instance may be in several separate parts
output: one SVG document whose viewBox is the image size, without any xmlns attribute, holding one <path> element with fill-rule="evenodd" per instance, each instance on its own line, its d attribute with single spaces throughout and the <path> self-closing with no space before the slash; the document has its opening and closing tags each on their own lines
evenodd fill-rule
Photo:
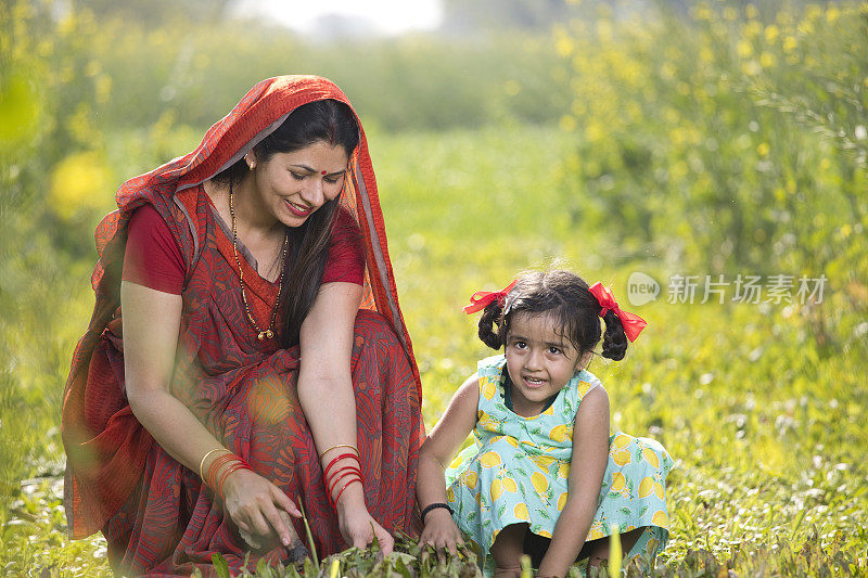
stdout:
<svg viewBox="0 0 868 578">
<path fill-rule="evenodd" d="M 237 10 L 275 18 L 304 34 L 316 34 L 332 15 L 362 18 L 382 35 L 433 29 L 442 18 L 438 0 L 242 0 Z"/>
</svg>

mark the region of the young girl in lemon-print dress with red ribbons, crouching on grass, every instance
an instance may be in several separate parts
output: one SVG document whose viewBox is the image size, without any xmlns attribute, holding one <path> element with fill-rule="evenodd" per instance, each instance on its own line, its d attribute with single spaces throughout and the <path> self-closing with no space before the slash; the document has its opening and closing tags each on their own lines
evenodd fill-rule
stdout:
<svg viewBox="0 0 868 578">
<path fill-rule="evenodd" d="M 577 558 L 599 564 L 615 526 L 625 560 L 656 554 L 668 536 L 672 458 L 654 440 L 609 435 L 609 398 L 585 369 L 599 317 L 602 356 L 614 360 L 644 321 L 567 271 L 471 300 L 465 312 L 484 308 L 480 338 L 503 355 L 480 361 L 422 447 L 422 542 L 455 552 L 463 532 L 495 576 L 519 576 L 522 553 L 539 576 L 565 576 Z M 471 431 L 475 446 L 447 468 Z"/>
</svg>

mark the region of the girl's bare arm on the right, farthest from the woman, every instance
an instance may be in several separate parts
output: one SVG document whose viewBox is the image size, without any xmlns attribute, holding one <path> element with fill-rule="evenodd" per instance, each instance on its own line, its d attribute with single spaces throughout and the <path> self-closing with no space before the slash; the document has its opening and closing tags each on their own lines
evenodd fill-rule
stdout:
<svg viewBox="0 0 868 578">
<path fill-rule="evenodd" d="M 609 454 L 609 396 L 598 385 L 582 399 L 573 428 L 569 493 L 538 576 L 566 576 L 588 536 Z"/>
</svg>

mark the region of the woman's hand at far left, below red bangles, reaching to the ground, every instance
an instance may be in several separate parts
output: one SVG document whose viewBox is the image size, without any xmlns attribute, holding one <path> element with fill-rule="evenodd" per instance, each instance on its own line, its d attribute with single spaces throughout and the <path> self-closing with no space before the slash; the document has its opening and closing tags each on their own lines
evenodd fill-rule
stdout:
<svg viewBox="0 0 868 578">
<path fill-rule="evenodd" d="M 266 478 L 250 470 L 233 472 L 224 483 L 224 497 L 229 517 L 245 532 L 263 537 L 277 532 L 286 548 L 301 543 L 295 529 L 283 521 L 279 510 L 294 517 L 302 517 L 302 512 Z"/>
</svg>

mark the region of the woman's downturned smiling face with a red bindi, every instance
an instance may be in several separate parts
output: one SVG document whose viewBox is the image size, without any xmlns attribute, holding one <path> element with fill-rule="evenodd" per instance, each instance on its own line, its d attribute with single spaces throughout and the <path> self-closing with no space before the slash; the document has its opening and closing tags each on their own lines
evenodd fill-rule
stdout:
<svg viewBox="0 0 868 578">
<path fill-rule="evenodd" d="M 286 227 L 301 227 L 344 187 L 346 150 L 324 141 L 291 153 L 276 153 L 253 171 L 263 206 Z"/>
</svg>

